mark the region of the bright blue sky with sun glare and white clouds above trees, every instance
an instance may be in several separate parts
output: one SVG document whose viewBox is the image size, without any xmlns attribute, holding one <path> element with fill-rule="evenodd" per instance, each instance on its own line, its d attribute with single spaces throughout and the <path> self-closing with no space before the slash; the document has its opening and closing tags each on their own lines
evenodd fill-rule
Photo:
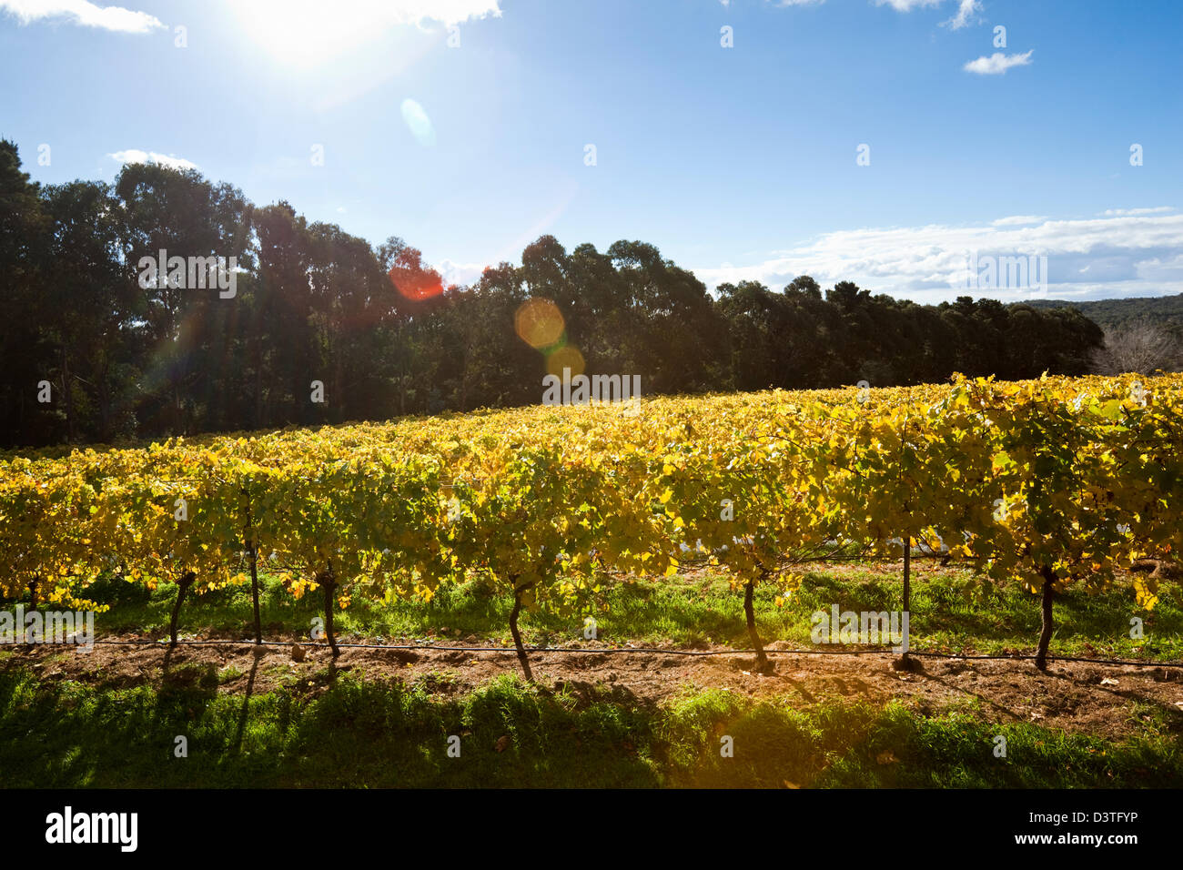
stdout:
<svg viewBox="0 0 1183 870">
<path fill-rule="evenodd" d="M 549 233 L 712 289 L 1157 296 L 1181 45 L 1181 0 L 0 0 L 0 137 L 44 183 L 193 166 L 455 283 Z"/>
</svg>

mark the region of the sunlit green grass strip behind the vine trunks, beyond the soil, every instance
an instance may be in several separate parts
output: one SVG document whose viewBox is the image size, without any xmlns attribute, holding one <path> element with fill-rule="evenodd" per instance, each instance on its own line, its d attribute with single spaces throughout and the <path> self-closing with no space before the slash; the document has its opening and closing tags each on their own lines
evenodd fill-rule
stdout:
<svg viewBox="0 0 1183 870">
<path fill-rule="evenodd" d="M 809 646 L 814 611 L 883 611 L 900 607 L 898 566 L 875 571 L 856 566 L 843 572 L 813 572 L 801 589 L 782 607 L 777 588 L 756 592 L 756 619 L 765 643 L 784 640 Z M 264 576 L 261 595 L 264 636 L 272 639 L 308 637 L 311 620 L 321 616 L 321 597 L 311 593 L 293 600 L 279 580 Z M 162 585 L 149 593 L 142 586 L 105 580 L 86 592 L 111 604 L 99 614 L 97 631 L 166 632 L 175 587 Z M 1153 611 L 1138 607 L 1129 589 L 1088 595 L 1069 589 L 1055 602 L 1056 633 L 1053 655 L 1118 658 L 1183 659 L 1183 589 L 1164 584 Z M 490 594 L 477 581 L 441 587 L 431 602 L 399 601 L 390 605 L 355 600 L 336 617 L 338 634 L 366 638 L 494 640 L 509 643 L 506 595 Z M 742 592 L 719 576 L 639 580 L 612 587 L 600 607 L 589 610 L 599 624 L 600 639 L 614 644 L 723 644 L 748 646 Z M 1144 621 L 1143 639 L 1130 638 L 1130 619 Z M 231 587 L 196 597 L 181 611 L 185 633 L 247 637 L 252 625 L 250 588 Z M 528 613 L 522 620 L 530 644 L 563 644 L 582 639 L 582 616 Z M 913 576 L 911 644 L 916 650 L 1002 653 L 1032 651 L 1039 636 L 1040 614 L 1035 595 L 1017 587 L 988 589 L 963 568 L 949 567 Z"/>
</svg>

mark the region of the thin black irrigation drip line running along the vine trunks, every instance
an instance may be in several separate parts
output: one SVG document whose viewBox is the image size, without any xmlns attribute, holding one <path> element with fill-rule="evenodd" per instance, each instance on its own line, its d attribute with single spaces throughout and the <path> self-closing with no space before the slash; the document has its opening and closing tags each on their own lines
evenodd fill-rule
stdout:
<svg viewBox="0 0 1183 870">
<path fill-rule="evenodd" d="M 159 646 L 167 645 L 168 638 L 160 640 L 96 640 L 95 644 L 108 644 L 110 646 Z M 286 640 L 177 640 L 177 646 L 306 646 L 311 649 L 330 649 L 327 643 L 289 643 Z M 351 650 L 427 650 L 437 652 L 517 652 L 516 646 L 434 646 L 431 644 L 344 644 L 337 643 L 340 649 Z M 654 656 L 751 656 L 756 650 L 661 650 L 653 647 L 627 647 L 618 646 L 613 649 L 583 649 L 571 646 L 526 646 L 526 652 L 569 652 L 592 656 L 610 656 L 614 653 L 640 653 Z M 765 656 L 887 656 L 894 655 L 894 650 L 764 650 Z M 988 659 L 988 660 L 1034 660 L 1035 656 L 1026 653 L 1014 653 L 1007 656 L 970 656 L 952 652 L 920 652 L 909 650 L 909 656 L 925 656 L 927 658 L 962 658 L 962 659 Z M 1116 664 L 1131 668 L 1183 668 L 1183 662 L 1131 662 L 1121 658 L 1082 658 L 1079 656 L 1048 656 L 1049 662 L 1082 662 L 1085 664 Z"/>
</svg>

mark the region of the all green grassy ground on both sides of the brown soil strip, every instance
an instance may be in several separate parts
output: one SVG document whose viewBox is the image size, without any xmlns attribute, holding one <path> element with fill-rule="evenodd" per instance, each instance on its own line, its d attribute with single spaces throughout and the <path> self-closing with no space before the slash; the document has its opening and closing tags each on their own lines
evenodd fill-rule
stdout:
<svg viewBox="0 0 1183 870">
<path fill-rule="evenodd" d="M 266 576 L 264 633 L 308 637 L 319 597 L 295 601 Z M 913 576 L 913 649 L 997 653 L 1029 651 L 1039 632 L 1035 597 L 985 591 L 957 567 L 922 565 Z M 756 595 L 765 642 L 810 645 L 810 614 L 900 606 L 898 565 L 836 565 L 804 579 L 777 606 L 781 591 Z M 167 631 L 175 587 L 154 593 L 109 580 L 90 597 L 111 605 L 102 634 Z M 711 575 L 614 587 L 595 612 L 609 644 L 748 646 L 742 593 Z M 0 605 L 11 607 L 11 604 Z M 1131 593 L 1056 600 L 1053 655 L 1183 659 L 1183 593 L 1164 586 L 1152 612 Z M 1131 617 L 1145 638 L 1129 637 Z M 377 639 L 509 642 L 509 601 L 472 582 L 441 589 L 432 602 L 355 602 L 338 632 Z M 185 633 L 246 637 L 250 589 L 192 600 Z M 530 644 L 582 638 L 582 618 L 531 613 Z M 366 678 L 357 670 L 309 671 L 279 688 L 244 694 L 219 685 L 232 668 L 181 665 L 149 681 L 43 679 L 0 651 L 0 771 L 5 786 L 767 786 L 767 787 L 1156 787 L 1183 786 L 1183 732 L 1170 710 L 1152 705 L 1121 742 L 991 721 L 989 704 L 968 694 L 938 711 L 893 701 L 800 696 L 745 697 L 686 688 L 661 703 L 596 688 L 589 697 L 528 685 L 504 675 L 474 690 L 450 687 L 446 672 L 414 682 Z M 253 682 L 253 679 L 252 679 Z M 1133 714 L 1131 714 L 1133 716 Z M 450 735 L 461 756 L 447 754 Z M 175 758 L 175 737 L 188 758 Z M 995 755 L 1006 737 L 1006 758 Z M 720 755 L 731 737 L 733 756 Z"/>
</svg>

